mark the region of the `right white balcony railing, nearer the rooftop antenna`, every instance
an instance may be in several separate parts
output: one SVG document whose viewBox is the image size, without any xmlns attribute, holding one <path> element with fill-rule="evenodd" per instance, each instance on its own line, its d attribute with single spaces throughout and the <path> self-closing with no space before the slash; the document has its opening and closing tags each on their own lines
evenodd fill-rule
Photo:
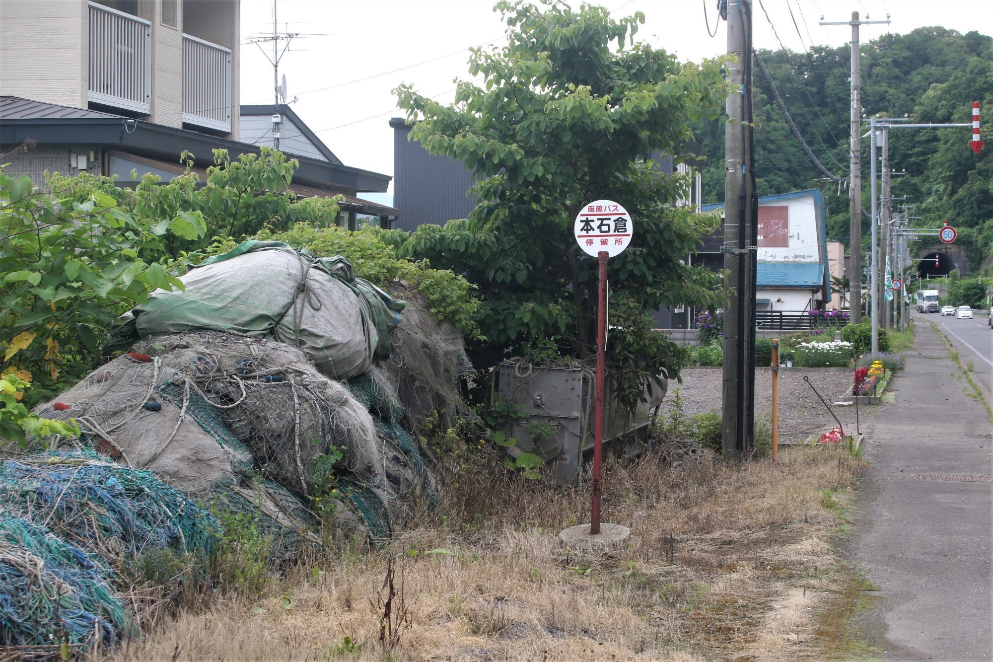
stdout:
<svg viewBox="0 0 993 662">
<path fill-rule="evenodd" d="M 231 52 L 183 35 L 183 121 L 231 130 Z"/>
</svg>

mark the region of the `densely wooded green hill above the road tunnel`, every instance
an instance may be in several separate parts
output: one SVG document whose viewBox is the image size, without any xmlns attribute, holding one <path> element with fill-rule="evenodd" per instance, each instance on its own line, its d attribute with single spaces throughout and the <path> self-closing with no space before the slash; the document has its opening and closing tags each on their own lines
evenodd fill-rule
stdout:
<svg viewBox="0 0 993 662">
<path fill-rule="evenodd" d="M 773 84 L 811 151 L 835 175 L 848 177 L 850 48 L 817 46 L 802 53 L 759 50 Z M 826 179 L 803 152 L 775 101 L 773 87 L 755 68 L 755 146 L 759 195 L 820 188 L 827 200 L 827 232 L 848 245 L 848 192 Z M 993 38 L 940 27 L 887 34 L 862 45 L 864 114 L 905 114 L 918 122 L 971 121 L 971 102 L 993 112 Z M 993 116 L 993 115 L 991 115 Z M 703 200 L 724 198 L 724 121 L 697 126 L 707 164 Z M 987 136 L 993 129 L 986 129 Z M 970 130 L 892 130 L 893 195 L 916 205 L 919 227 L 947 220 L 959 230 L 971 268 L 986 270 L 993 258 L 993 139 L 975 155 Z M 863 203 L 869 209 L 869 140 L 863 141 Z M 863 242 L 870 227 L 864 219 Z"/>
</svg>

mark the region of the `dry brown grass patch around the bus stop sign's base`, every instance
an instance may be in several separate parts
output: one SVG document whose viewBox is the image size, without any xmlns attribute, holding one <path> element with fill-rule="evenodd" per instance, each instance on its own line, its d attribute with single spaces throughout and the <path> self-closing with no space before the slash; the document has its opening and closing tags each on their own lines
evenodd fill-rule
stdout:
<svg viewBox="0 0 993 662">
<path fill-rule="evenodd" d="M 388 548 L 274 578 L 259 595 L 182 609 L 112 659 L 783 660 L 814 655 L 812 609 L 836 560 L 826 539 L 859 460 L 841 448 L 780 462 L 649 453 L 606 476 L 605 520 L 628 548 L 576 555 L 585 488 L 464 475 L 448 502 Z M 826 498 L 824 490 L 832 490 Z M 387 561 L 390 625 L 380 641 Z M 376 606 L 376 605 L 379 606 Z M 389 636 L 385 637 L 387 640 Z M 354 644 L 349 650 L 348 642 Z M 360 650 L 355 650 L 360 645 Z"/>
</svg>

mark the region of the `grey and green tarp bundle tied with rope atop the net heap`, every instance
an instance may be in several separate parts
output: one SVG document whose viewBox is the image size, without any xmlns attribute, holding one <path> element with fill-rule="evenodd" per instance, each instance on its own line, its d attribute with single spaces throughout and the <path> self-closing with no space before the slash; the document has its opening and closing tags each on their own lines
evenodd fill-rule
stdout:
<svg viewBox="0 0 993 662">
<path fill-rule="evenodd" d="M 356 278 L 340 255 L 314 257 L 280 242 L 244 242 L 194 266 L 186 291 L 153 292 L 132 311 L 144 338 L 206 329 L 300 347 L 332 379 L 389 356 L 405 303 Z"/>
</svg>

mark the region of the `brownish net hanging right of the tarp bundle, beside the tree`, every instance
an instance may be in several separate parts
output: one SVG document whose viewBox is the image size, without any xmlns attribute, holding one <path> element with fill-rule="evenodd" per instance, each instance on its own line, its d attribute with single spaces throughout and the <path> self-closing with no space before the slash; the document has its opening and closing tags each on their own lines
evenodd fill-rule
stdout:
<svg viewBox="0 0 993 662">
<path fill-rule="evenodd" d="M 438 413 L 443 429 L 456 425 L 470 410 L 462 397 L 461 379 L 473 372 L 462 333 L 431 316 L 427 300 L 394 285 L 394 295 L 407 299 L 403 319 L 393 331 L 392 352 L 385 362 L 396 388 L 408 428 L 419 433 L 429 415 Z"/>
</svg>

